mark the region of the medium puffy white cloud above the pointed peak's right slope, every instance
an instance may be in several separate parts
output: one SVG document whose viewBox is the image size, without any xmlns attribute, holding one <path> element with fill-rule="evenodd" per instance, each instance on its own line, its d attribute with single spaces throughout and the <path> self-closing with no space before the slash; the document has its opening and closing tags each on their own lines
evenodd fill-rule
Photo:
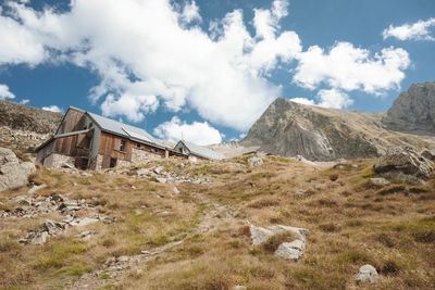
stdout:
<svg viewBox="0 0 435 290">
<path fill-rule="evenodd" d="M 385 48 L 370 55 L 366 49 L 355 48 L 349 42 L 337 42 L 325 52 L 318 46 L 299 54 L 294 83 L 314 89 L 321 84 L 346 91 L 362 90 L 382 94 L 388 89 L 399 89 L 405 78 L 402 72 L 410 65 L 408 52 L 401 48 Z"/>
</svg>

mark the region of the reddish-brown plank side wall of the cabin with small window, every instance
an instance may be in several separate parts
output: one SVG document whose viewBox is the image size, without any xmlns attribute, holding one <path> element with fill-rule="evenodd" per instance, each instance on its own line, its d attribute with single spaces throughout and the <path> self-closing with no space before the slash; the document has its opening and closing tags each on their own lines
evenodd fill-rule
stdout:
<svg viewBox="0 0 435 290">
<path fill-rule="evenodd" d="M 120 152 L 121 140 L 125 140 L 126 142 L 125 152 Z M 122 137 L 117 137 L 107 133 L 101 133 L 100 150 L 98 151 L 98 153 L 117 160 L 132 161 L 132 148 L 134 146 L 136 146 L 136 142 L 133 142 L 128 139 L 124 139 Z"/>
</svg>

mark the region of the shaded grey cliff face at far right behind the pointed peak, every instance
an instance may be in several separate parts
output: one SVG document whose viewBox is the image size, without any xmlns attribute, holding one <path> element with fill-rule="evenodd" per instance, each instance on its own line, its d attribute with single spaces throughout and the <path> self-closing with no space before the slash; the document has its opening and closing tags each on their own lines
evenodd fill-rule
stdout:
<svg viewBox="0 0 435 290">
<path fill-rule="evenodd" d="M 413 84 L 400 93 L 383 123 L 391 130 L 435 136 L 435 81 Z"/>
</svg>

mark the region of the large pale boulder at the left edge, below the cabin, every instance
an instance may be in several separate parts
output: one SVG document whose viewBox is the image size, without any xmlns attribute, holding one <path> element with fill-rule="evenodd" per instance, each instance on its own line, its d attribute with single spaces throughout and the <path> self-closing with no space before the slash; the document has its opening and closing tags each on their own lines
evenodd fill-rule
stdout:
<svg viewBox="0 0 435 290">
<path fill-rule="evenodd" d="M 21 162 L 12 150 L 0 148 L 0 191 L 27 185 L 35 172 L 35 164 Z"/>
</svg>

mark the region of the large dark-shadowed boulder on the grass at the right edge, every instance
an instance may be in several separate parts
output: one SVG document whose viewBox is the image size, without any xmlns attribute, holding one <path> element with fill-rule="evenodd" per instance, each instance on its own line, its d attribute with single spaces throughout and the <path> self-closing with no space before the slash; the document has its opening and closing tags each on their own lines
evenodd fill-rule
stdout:
<svg viewBox="0 0 435 290">
<path fill-rule="evenodd" d="M 432 162 L 410 148 L 389 150 L 373 168 L 385 177 L 411 184 L 423 184 L 433 173 Z"/>
</svg>

